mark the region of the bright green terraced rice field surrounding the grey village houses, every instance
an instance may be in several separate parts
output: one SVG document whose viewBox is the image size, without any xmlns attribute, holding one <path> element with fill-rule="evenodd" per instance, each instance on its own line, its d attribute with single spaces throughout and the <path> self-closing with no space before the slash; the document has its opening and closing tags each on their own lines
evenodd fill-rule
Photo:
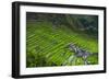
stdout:
<svg viewBox="0 0 109 80">
<path fill-rule="evenodd" d="M 74 52 L 65 49 L 69 43 L 98 53 L 96 38 L 73 32 L 64 25 L 52 27 L 50 22 L 27 22 L 26 26 L 26 67 L 80 66 L 82 58 L 75 58 Z M 98 64 L 98 55 L 87 58 L 89 65 Z"/>
</svg>

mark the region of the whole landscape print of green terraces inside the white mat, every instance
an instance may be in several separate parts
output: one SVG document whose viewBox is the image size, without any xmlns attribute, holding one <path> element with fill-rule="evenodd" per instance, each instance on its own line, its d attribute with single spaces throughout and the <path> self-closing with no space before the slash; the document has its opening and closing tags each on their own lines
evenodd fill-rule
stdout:
<svg viewBox="0 0 109 80">
<path fill-rule="evenodd" d="M 98 16 L 26 12 L 26 67 L 98 65 Z"/>
</svg>

